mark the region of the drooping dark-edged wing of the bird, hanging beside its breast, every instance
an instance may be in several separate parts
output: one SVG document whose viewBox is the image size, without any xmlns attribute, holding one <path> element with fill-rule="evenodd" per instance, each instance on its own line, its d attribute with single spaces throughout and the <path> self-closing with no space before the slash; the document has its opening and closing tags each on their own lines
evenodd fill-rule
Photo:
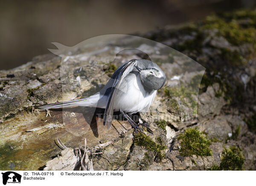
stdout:
<svg viewBox="0 0 256 186">
<path fill-rule="evenodd" d="M 121 82 L 137 65 L 137 60 L 130 60 L 126 64 L 122 65 L 116 70 L 111 78 L 114 79 L 113 86 L 108 96 L 108 102 L 105 108 L 105 113 L 103 117 L 103 125 L 107 125 L 108 129 L 111 128 L 112 119 L 113 119 L 113 105 L 116 96 L 116 91 L 118 90 Z"/>
</svg>

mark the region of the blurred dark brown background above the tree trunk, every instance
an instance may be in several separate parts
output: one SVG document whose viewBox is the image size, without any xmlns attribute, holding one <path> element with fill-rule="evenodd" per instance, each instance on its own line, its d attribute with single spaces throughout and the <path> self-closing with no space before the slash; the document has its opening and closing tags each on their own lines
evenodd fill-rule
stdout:
<svg viewBox="0 0 256 186">
<path fill-rule="evenodd" d="M 250 8 L 255 0 L 0 0 L 0 70 L 55 48 L 105 34 L 145 33 L 211 12 Z"/>
</svg>

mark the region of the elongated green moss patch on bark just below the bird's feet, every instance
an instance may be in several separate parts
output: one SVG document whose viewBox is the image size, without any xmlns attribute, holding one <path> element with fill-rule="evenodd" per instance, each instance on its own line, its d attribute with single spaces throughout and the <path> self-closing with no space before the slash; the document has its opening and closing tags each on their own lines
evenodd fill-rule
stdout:
<svg viewBox="0 0 256 186">
<path fill-rule="evenodd" d="M 159 139 L 157 138 L 157 141 Z M 138 133 L 134 136 L 134 144 L 143 146 L 148 151 L 152 151 L 154 153 L 154 161 L 161 162 L 163 158 L 166 156 L 162 151 L 166 149 L 166 146 L 163 145 L 163 141 L 161 139 L 160 144 L 154 142 L 149 136 L 143 133 Z"/>
</svg>

